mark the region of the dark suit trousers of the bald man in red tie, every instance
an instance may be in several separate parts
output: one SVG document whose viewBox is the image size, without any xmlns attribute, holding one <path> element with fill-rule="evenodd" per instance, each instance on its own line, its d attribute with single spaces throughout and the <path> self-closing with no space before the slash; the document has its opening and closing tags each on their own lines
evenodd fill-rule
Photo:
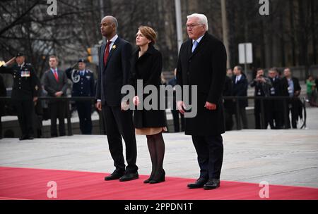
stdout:
<svg viewBox="0 0 318 214">
<path fill-rule="evenodd" d="M 105 118 L 107 141 L 110 149 L 110 154 L 114 160 L 116 170 L 127 173 L 137 172 L 137 146 L 134 124 L 132 120 L 132 112 L 122 111 L 120 106 L 102 106 L 102 113 Z M 124 155 L 122 148 L 122 138 L 126 145 L 126 161 L 125 169 Z"/>
</svg>

